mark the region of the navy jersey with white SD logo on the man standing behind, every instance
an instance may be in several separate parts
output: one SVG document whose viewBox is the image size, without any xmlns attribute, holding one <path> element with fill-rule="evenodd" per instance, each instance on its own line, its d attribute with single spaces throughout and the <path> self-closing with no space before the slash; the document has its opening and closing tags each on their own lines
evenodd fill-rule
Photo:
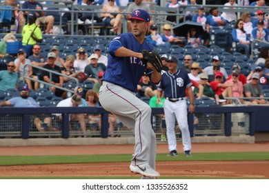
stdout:
<svg viewBox="0 0 269 193">
<path fill-rule="evenodd" d="M 175 74 L 169 71 L 161 75 L 161 83 L 158 90 L 164 92 L 165 98 L 178 99 L 186 96 L 186 88 L 190 87 L 192 82 L 185 70 L 177 70 Z"/>
</svg>

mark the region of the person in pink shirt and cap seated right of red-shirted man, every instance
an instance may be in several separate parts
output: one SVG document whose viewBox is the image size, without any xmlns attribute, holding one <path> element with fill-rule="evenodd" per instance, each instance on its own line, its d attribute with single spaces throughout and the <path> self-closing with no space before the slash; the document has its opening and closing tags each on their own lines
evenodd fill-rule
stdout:
<svg viewBox="0 0 269 193">
<path fill-rule="evenodd" d="M 225 83 L 232 85 L 232 97 L 241 98 L 243 97 L 243 83 L 239 81 L 239 70 L 232 70 L 232 79 L 229 79 Z M 239 99 L 243 103 L 243 99 Z"/>
</svg>

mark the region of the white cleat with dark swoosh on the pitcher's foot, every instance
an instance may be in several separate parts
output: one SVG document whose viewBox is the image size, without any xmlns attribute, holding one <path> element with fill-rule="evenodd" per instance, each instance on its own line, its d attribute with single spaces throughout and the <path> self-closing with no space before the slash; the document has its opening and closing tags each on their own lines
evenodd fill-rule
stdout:
<svg viewBox="0 0 269 193">
<path fill-rule="evenodd" d="M 142 165 L 130 165 L 131 172 L 136 174 L 141 174 L 147 177 L 158 177 L 160 176 L 159 172 L 153 170 L 148 163 Z"/>
</svg>

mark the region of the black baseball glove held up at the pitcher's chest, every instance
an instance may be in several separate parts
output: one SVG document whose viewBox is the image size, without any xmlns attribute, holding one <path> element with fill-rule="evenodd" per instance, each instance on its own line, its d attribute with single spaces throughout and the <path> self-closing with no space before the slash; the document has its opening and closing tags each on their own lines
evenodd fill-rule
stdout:
<svg viewBox="0 0 269 193">
<path fill-rule="evenodd" d="M 161 72 L 161 68 L 163 67 L 163 63 L 161 62 L 161 57 L 158 52 L 152 51 L 148 52 L 148 50 L 142 50 L 143 54 L 143 63 L 146 65 L 153 65 L 153 67 L 157 70 L 157 72 Z"/>
</svg>

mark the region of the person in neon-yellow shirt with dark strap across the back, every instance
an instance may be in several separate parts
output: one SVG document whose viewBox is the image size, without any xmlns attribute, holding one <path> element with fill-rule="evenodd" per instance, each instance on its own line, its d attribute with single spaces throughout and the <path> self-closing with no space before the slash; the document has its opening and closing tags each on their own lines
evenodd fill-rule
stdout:
<svg viewBox="0 0 269 193">
<path fill-rule="evenodd" d="M 21 33 L 21 42 L 23 43 L 23 45 L 35 45 L 42 42 L 42 32 L 39 26 L 35 24 L 35 21 L 37 21 L 37 17 L 34 14 L 29 13 L 28 23 L 26 26 L 23 27 Z"/>
</svg>

